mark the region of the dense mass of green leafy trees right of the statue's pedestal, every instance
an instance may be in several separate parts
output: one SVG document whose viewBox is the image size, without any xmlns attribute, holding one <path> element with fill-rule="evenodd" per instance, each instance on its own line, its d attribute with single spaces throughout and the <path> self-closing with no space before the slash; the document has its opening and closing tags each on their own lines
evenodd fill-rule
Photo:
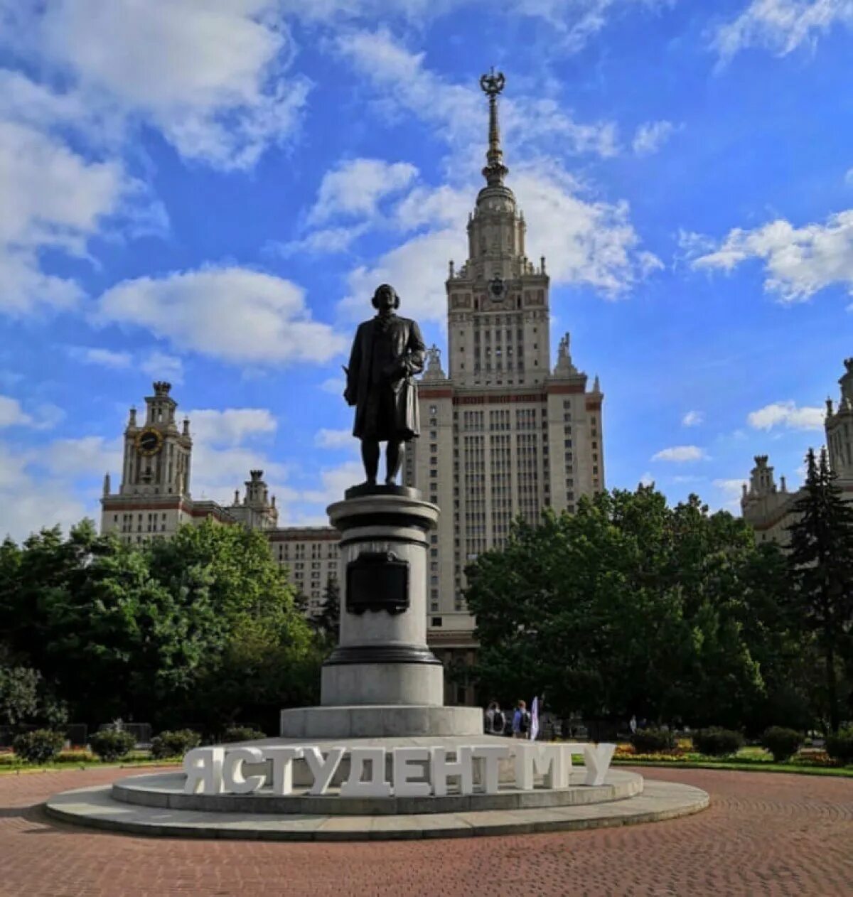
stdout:
<svg viewBox="0 0 853 897">
<path fill-rule="evenodd" d="M 756 551 L 742 521 L 695 496 L 667 508 L 653 487 L 516 523 L 468 570 L 483 692 L 544 691 L 588 717 L 743 721 L 766 701 L 744 591 Z"/>
</svg>

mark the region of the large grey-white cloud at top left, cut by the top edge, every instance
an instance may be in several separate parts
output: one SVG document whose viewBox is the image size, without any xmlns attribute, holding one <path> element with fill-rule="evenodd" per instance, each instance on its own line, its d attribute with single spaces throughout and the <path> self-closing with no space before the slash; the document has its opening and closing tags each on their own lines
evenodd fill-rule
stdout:
<svg viewBox="0 0 853 897">
<path fill-rule="evenodd" d="M 287 77 L 292 39 L 275 0 L 57 0 L 34 4 L 16 48 L 100 118 L 144 121 L 189 159 L 248 168 L 299 125 L 309 82 Z M 69 91 L 71 93 L 71 91 Z M 91 112 L 90 112 L 91 116 Z"/>
</svg>

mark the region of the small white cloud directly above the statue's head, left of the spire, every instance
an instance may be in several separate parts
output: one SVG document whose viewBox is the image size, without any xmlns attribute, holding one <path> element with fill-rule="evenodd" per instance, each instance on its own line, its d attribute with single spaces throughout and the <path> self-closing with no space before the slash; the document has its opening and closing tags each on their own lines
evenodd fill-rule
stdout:
<svg viewBox="0 0 853 897">
<path fill-rule="evenodd" d="M 380 200 L 407 187 L 417 173 L 408 162 L 341 162 L 324 175 L 309 223 L 321 224 L 341 215 L 370 217 L 377 212 Z"/>
</svg>

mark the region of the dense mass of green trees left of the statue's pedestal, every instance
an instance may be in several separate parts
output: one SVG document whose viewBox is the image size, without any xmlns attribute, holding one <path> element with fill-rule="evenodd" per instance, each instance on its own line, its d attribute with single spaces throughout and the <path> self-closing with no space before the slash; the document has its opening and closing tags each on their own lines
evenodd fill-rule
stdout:
<svg viewBox="0 0 853 897">
<path fill-rule="evenodd" d="M 213 522 L 141 547 L 89 521 L 7 541 L 0 631 L 90 722 L 231 721 L 300 701 L 320 662 L 264 536 Z"/>
</svg>

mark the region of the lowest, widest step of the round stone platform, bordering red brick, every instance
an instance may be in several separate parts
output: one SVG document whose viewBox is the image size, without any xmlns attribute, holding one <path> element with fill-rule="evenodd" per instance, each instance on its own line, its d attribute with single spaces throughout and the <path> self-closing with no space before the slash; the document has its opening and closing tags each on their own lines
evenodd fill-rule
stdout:
<svg viewBox="0 0 853 897">
<path fill-rule="evenodd" d="M 121 804 L 111 786 L 80 788 L 51 797 L 48 816 L 109 832 L 168 838 L 238 840 L 414 840 L 577 831 L 660 822 L 709 805 L 700 788 L 649 781 L 626 800 L 588 806 L 482 810 L 413 815 L 217 814 Z"/>
</svg>

